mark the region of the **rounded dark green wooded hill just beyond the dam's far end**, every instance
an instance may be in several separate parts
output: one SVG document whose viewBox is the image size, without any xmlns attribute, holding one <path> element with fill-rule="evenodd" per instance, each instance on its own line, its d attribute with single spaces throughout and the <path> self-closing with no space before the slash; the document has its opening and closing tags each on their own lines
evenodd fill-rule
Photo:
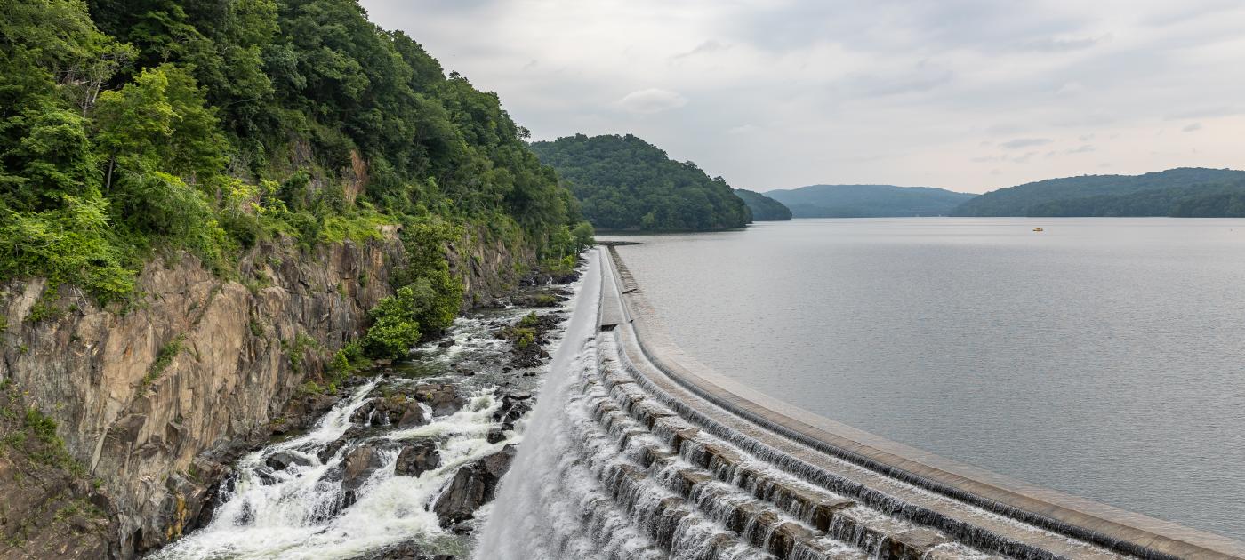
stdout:
<svg viewBox="0 0 1245 560">
<path fill-rule="evenodd" d="M 743 228 L 752 217 L 721 177 L 675 162 L 640 138 L 576 134 L 532 149 L 566 180 L 596 228 L 705 231 Z"/>
</svg>

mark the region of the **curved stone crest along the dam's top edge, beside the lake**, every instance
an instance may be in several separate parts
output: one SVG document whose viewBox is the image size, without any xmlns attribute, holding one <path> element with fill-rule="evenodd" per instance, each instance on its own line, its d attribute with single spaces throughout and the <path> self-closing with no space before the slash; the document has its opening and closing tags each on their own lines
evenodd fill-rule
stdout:
<svg viewBox="0 0 1245 560">
<path fill-rule="evenodd" d="M 793 442 L 949 500 L 1063 536 L 1069 543 L 1081 541 L 1113 554 L 1147 559 L 1245 558 L 1245 544 L 1233 539 L 957 463 L 829 421 L 726 378 L 688 357 L 671 342 L 657 314 L 646 301 L 641 286 L 627 271 L 618 251 L 611 246 L 608 253 L 609 259 L 605 260 L 611 265 L 611 270 L 606 275 L 606 282 L 613 280 L 614 286 L 608 286 L 604 294 L 606 300 L 618 297 L 615 304 L 618 315 L 610 316 L 611 311 L 605 311 L 603 322 L 616 322 L 619 327 L 614 330 L 619 337 L 630 338 L 627 342 L 632 350 L 639 350 L 642 355 L 637 361 L 651 366 L 642 373 L 649 373 L 646 377 L 654 383 L 664 377 L 664 381 L 674 382 L 705 402 L 771 432 L 772 436 L 768 438 L 757 438 L 761 447 Z M 603 302 L 603 310 L 609 307 L 611 301 Z M 803 467 L 814 467 L 814 472 L 820 470 L 812 464 Z M 814 473 L 804 474 L 820 478 Z M 936 518 L 941 516 L 942 511 L 931 508 L 930 511 L 916 516 L 930 516 L 930 514 Z M 936 524 L 946 525 L 949 529 L 956 525 L 946 521 Z M 990 539 L 972 543 L 976 539 L 972 533 L 981 534 L 981 529 L 985 528 L 952 529 L 951 533 L 970 544 L 985 545 L 987 550 L 996 548 L 986 543 Z M 1000 531 L 995 536 L 1001 540 L 1008 538 L 1006 531 Z M 1013 536 L 1016 543 L 991 551 L 1007 554 L 1011 549 L 1011 554 L 1015 554 L 1020 553 L 1018 549 L 1032 548 L 1031 551 L 1020 555 L 1045 555 L 1043 541 L 1048 540 L 1045 535 L 1032 544 L 1026 544 L 1025 535 Z M 1058 555 L 1052 550 L 1045 553 Z"/>
</svg>

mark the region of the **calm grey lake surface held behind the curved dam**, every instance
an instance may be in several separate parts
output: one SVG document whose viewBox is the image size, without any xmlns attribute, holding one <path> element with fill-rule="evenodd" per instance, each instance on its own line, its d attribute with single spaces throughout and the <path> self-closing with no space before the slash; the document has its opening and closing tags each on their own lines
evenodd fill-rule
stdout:
<svg viewBox="0 0 1245 560">
<path fill-rule="evenodd" d="M 622 259 L 675 341 L 723 375 L 1245 540 L 1245 220 L 825 219 L 616 239 L 642 241 Z"/>
</svg>

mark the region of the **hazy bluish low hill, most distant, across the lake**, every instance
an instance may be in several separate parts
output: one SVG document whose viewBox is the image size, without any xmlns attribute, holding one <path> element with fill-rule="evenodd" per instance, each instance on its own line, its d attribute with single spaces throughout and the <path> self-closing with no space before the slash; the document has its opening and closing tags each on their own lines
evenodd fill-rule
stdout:
<svg viewBox="0 0 1245 560">
<path fill-rule="evenodd" d="M 814 184 L 766 192 L 796 218 L 890 218 L 947 215 L 974 194 L 930 187 Z"/>
</svg>

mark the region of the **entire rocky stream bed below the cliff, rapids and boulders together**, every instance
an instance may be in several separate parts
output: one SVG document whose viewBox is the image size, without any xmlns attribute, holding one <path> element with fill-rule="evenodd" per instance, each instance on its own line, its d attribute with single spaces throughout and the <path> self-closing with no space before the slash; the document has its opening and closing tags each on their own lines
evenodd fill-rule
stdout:
<svg viewBox="0 0 1245 560">
<path fill-rule="evenodd" d="M 563 315 L 576 300 L 540 314 Z M 243 457 L 219 487 L 210 521 L 148 558 L 467 558 L 467 534 L 488 508 L 446 498 L 461 470 L 513 455 L 523 438 L 522 414 L 547 366 L 517 365 L 498 329 L 529 311 L 456 320 L 447 338 L 360 382 L 305 433 Z M 560 331 L 548 327 L 542 341 L 557 343 Z"/>
</svg>

